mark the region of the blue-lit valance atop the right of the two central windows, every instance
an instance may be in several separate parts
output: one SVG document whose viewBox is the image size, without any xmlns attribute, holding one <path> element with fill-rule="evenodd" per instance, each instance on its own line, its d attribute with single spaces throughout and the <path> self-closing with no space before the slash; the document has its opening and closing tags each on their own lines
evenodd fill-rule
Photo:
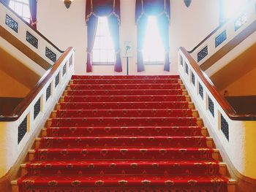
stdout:
<svg viewBox="0 0 256 192">
<path fill-rule="evenodd" d="M 143 15 L 165 15 L 170 22 L 170 0 L 136 0 L 135 22 Z"/>
</svg>

